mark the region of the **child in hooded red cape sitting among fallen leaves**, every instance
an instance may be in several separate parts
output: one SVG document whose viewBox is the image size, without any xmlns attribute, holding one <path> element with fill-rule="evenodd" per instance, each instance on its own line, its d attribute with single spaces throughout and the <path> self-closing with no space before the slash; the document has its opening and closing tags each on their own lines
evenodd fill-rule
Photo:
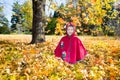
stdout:
<svg viewBox="0 0 120 80">
<path fill-rule="evenodd" d="M 81 40 L 75 35 L 76 28 L 72 22 L 66 25 L 67 35 L 62 37 L 55 49 L 55 56 L 62 58 L 64 61 L 75 64 L 83 60 L 87 54 Z"/>
</svg>

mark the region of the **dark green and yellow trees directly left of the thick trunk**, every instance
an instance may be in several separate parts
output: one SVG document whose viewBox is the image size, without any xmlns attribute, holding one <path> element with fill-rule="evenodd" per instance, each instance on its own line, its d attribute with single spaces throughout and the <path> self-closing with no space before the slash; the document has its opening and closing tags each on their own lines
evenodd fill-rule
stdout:
<svg viewBox="0 0 120 80">
<path fill-rule="evenodd" d="M 13 4 L 13 15 L 11 19 L 12 31 L 19 33 L 29 33 L 32 29 L 32 3 L 30 0 L 19 4 L 15 2 Z"/>
</svg>

